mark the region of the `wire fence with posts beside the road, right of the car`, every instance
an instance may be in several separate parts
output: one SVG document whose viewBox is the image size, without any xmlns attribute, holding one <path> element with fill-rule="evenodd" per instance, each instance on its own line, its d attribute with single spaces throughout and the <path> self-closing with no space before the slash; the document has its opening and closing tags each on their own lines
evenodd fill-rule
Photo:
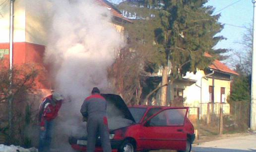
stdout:
<svg viewBox="0 0 256 152">
<path fill-rule="evenodd" d="M 231 103 L 205 103 L 198 112 L 200 115 L 200 136 L 243 132 L 250 124 L 250 102 L 237 101 Z M 192 107 L 193 109 L 194 107 Z M 194 121 L 189 115 L 192 123 Z M 198 125 L 196 124 L 196 125 Z"/>
</svg>

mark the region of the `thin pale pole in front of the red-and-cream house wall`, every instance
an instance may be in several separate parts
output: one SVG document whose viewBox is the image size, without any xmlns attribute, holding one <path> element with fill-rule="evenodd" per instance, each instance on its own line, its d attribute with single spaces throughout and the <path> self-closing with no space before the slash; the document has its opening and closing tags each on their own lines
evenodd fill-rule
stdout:
<svg viewBox="0 0 256 152">
<path fill-rule="evenodd" d="M 12 124 L 12 117 L 13 117 L 13 113 L 12 113 L 12 101 L 13 101 L 13 97 L 12 97 L 12 65 L 13 65 L 13 18 L 14 18 L 14 9 L 13 9 L 13 5 L 14 5 L 14 0 L 10 0 L 10 28 L 9 28 L 9 70 L 10 70 L 10 75 L 9 75 L 9 81 L 10 81 L 10 86 L 8 89 L 9 92 L 9 97 L 8 97 L 8 124 L 9 124 L 9 138 L 12 136 L 13 134 L 13 124 Z"/>
</svg>

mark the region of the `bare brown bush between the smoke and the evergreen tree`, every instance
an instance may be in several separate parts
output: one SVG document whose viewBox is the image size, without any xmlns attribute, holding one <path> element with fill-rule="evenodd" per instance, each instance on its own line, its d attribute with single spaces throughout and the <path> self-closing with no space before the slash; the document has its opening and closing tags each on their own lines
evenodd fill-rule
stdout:
<svg viewBox="0 0 256 152">
<path fill-rule="evenodd" d="M 128 104 L 139 104 L 142 95 L 142 85 L 145 75 L 145 59 L 147 52 L 139 49 L 134 51 L 128 45 L 123 48 L 113 66 L 109 69 L 109 78 L 112 79 L 115 91 L 120 94 Z"/>
</svg>

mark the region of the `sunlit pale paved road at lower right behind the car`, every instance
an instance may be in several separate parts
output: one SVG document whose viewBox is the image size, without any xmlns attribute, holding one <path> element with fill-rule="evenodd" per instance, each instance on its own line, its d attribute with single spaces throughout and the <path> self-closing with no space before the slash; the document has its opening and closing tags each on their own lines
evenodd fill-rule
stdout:
<svg viewBox="0 0 256 152">
<path fill-rule="evenodd" d="M 256 152 L 256 135 L 228 137 L 193 145 L 192 152 Z"/>
</svg>

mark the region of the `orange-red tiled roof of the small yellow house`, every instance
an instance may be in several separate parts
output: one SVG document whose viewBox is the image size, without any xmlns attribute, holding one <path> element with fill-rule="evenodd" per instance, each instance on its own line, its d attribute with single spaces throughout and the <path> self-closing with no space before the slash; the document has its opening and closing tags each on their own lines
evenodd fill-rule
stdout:
<svg viewBox="0 0 256 152">
<path fill-rule="evenodd" d="M 212 57 L 209 53 L 205 52 L 204 56 Z M 234 75 L 239 75 L 236 71 L 231 70 L 227 65 L 221 63 L 219 60 L 215 59 L 211 65 L 208 66 L 211 69 L 219 70 L 221 72 L 230 73 Z"/>
</svg>

